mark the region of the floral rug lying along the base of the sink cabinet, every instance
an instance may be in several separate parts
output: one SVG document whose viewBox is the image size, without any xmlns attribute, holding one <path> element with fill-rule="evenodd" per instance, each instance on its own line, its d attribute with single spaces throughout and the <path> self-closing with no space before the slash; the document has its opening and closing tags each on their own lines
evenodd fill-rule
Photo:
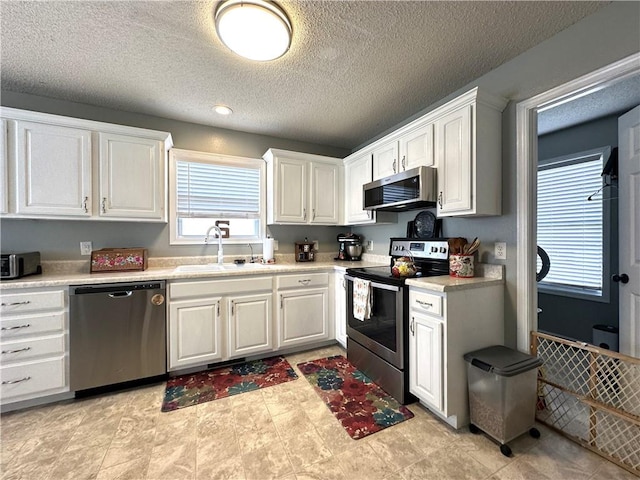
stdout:
<svg viewBox="0 0 640 480">
<path fill-rule="evenodd" d="M 219 398 L 271 387 L 298 378 L 284 357 L 207 370 L 167 381 L 162 411 L 190 407 Z"/>
</svg>

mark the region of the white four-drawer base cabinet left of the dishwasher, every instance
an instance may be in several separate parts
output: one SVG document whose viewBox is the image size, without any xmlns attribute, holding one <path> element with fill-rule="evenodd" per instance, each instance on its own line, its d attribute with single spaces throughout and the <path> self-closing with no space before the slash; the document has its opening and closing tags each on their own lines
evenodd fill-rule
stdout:
<svg viewBox="0 0 640 480">
<path fill-rule="evenodd" d="M 69 392 L 66 290 L 6 290 L 0 311 L 2 405 Z"/>
</svg>

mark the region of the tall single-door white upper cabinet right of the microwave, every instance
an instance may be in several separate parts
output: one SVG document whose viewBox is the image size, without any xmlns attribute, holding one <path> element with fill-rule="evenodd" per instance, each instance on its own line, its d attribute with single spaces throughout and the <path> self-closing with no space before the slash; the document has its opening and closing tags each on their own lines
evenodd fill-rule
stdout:
<svg viewBox="0 0 640 480">
<path fill-rule="evenodd" d="M 506 101 L 474 88 L 435 119 L 438 216 L 502 214 L 502 110 Z"/>
</svg>

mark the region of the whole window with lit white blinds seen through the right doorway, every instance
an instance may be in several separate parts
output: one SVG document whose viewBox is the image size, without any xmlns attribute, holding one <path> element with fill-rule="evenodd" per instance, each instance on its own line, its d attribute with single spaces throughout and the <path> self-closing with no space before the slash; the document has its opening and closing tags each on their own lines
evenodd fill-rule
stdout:
<svg viewBox="0 0 640 480">
<path fill-rule="evenodd" d="M 551 260 L 540 293 L 609 302 L 610 192 L 587 198 L 603 186 L 610 154 L 610 147 L 600 147 L 538 163 L 537 243 Z M 580 231 L 567 225 L 573 218 Z"/>
</svg>

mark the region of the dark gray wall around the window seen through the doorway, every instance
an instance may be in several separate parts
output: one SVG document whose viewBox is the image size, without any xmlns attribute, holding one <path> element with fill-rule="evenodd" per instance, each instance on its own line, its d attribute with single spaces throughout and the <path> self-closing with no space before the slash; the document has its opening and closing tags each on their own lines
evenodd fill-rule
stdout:
<svg viewBox="0 0 640 480">
<path fill-rule="evenodd" d="M 624 112 L 621 112 L 624 113 Z M 567 128 L 538 138 L 538 158 L 545 160 L 602 146 L 618 146 L 618 116 L 611 115 L 573 128 Z M 605 232 L 609 245 L 609 272 L 618 270 L 618 200 L 617 189 L 603 192 L 603 211 L 611 219 Z M 607 270 L 605 270 L 606 274 Z M 608 277 L 608 275 L 607 275 Z M 538 294 L 538 328 L 563 337 L 591 342 L 594 325 L 618 326 L 618 284 L 610 282 L 609 302 L 597 302 L 560 295 Z"/>
</svg>

